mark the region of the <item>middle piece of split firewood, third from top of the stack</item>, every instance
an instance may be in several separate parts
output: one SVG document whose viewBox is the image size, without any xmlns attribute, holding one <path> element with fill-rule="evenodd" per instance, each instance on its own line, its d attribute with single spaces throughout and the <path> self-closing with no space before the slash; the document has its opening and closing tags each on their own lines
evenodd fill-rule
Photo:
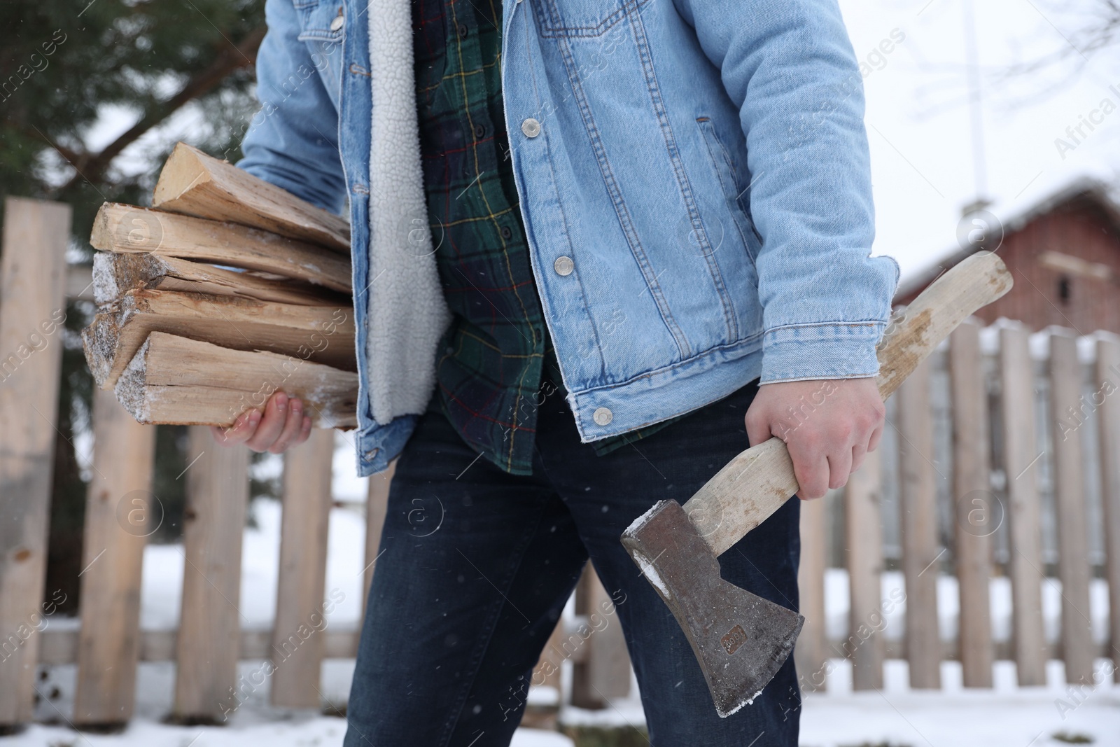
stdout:
<svg viewBox="0 0 1120 747">
<path fill-rule="evenodd" d="M 251 270 L 227 270 L 176 256 L 113 254 L 93 258 L 93 300 L 111 304 L 130 290 L 178 290 L 213 296 L 237 296 L 297 306 L 345 306 L 349 297 L 309 283 Z"/>
</svg>

